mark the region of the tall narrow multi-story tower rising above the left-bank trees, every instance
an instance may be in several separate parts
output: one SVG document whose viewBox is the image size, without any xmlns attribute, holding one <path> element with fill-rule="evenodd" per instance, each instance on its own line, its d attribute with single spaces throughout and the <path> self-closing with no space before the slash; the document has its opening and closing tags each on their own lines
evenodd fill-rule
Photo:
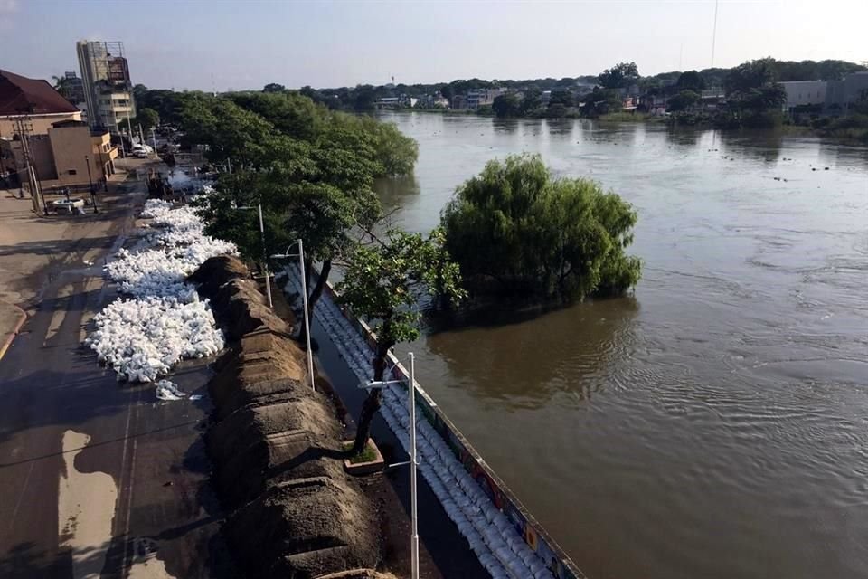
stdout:
<svg viewBox="0 0 868 579">
<path fill-rule="evenodd" d="M 119 133 L 123 121 L 136 116 L 124 44 L 82 40 L 76 50 L 90 127 Z"/>
</svg>

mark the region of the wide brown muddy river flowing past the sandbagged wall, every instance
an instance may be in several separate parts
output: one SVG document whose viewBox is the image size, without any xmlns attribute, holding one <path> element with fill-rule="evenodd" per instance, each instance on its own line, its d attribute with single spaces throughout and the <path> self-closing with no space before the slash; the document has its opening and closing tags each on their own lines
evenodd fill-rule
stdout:
<svg viewBox="0 0 868 579">
<path fill-rule="evenodd" d="M 387 118 L 420 143 L 415 178 L 380 184 L 410 230 L 521 151 L 637 207 L 634 297 L 412 345 L 420 383 L 591 579 L 868 577 L 868 149 Z"/>
</svg>

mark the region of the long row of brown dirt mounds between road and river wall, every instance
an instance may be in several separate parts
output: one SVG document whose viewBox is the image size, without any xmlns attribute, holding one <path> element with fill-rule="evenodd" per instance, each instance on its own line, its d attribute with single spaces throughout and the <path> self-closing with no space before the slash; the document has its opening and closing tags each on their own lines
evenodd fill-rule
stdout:
<svg viewBox="0 0 868 579">
<path fill-rule="evenodd" d="M 209 384 L 217 422 L 207 444 L 236 555 L 269 579 L 375 568 L 373 506 L 344 473 L 335 406 L 310 388 L 291 327 L 236 258 L 205 261 L 190 280 L 234 342 Z"/>
</svg>

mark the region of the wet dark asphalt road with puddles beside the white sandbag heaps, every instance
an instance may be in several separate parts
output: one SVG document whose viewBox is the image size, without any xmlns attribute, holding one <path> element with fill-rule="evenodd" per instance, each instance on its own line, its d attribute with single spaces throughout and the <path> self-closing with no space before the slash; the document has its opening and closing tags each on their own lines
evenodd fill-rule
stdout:
<svg viewBox="0 0 868 579">
<path fill-rule="evenodd" d="M 87 267 L 85 255 L 109 252 L 130 227 L 134 201 L 119 197 L 107 207 L 112 234 L 82 240 L 46 272 L 42 300 L 0 360 L 5 579 L 219 576 L 206 561 L 237 576 L 215 535 L 198 436 L 204 403 L 158 403 L 152 387 L 118 384 L 80 346 L 83 327 L 114 294 L 99 265 L 77 268 Z M 204 390 L 206 372 L 190 364 L 174 379 Z"/>
</svg>

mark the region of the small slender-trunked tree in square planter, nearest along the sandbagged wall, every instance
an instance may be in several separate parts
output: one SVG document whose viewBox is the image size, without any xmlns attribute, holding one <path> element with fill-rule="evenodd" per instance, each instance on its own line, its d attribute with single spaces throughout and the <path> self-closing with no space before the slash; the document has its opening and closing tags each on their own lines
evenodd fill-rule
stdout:
<svg viewBox="0 0 868 579">
<path fill-rule="evenodd" d="M 337 285 L 341 303 L 373 323 L 376 347 L 373 379 L 382 381 L 389 350 L 419 337 L 420 298 L 424 292 L 458 302 L 465 297 L 458 266 L 445 252 L 439 231 L 428 239 L 392 230 L 384 241 L 359 246 L 344 280 Z M 353 451 L 363 451 L 371 421 L 380 409 L 382 389 L 372 388 L 357 422 Z"/>
</svg>

